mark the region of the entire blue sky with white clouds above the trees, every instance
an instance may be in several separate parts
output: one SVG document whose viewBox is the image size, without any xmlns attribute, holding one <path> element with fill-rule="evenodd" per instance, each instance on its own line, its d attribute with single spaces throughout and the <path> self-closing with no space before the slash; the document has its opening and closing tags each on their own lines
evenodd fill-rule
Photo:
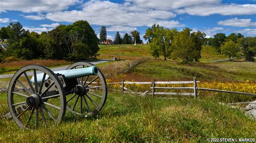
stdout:
<svg viewBox="0 0 256 143">
<path fill-rule="evenodd" d="M 20 22 L 26 30 L 41 33 L 77 20 L 87 20 L 98 37 L 100 27 L 106 26 L 109 39 L 117 31 L 123 36 L 133 30 L 143 39 L 153 24 L 179 31 L 189 27 L 207 37 L 256 36 L 256 0 L 0 0 L 0 27 Z"/>
</svg>

